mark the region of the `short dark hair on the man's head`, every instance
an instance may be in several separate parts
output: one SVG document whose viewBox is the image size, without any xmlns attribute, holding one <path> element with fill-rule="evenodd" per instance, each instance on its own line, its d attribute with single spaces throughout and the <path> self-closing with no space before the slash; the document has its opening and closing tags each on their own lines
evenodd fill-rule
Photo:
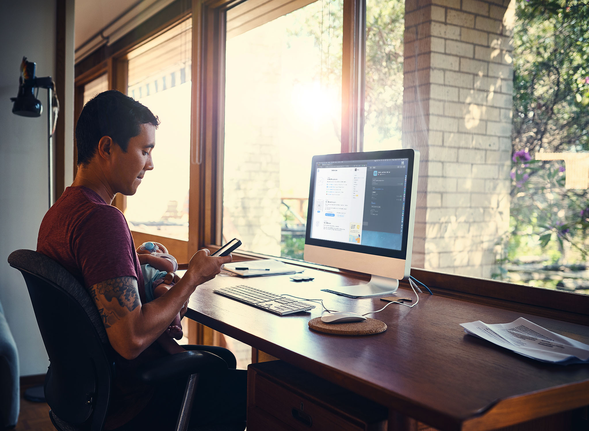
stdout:
<svg viewBox="0 0 589 431">
<path fill-rule="evenodd" d="M 80 113 L 75 126 L 78 148 L 78 165 L 88 164 L 103 136 L 110 136 L 124 152 L 129 140 L 141 133 L 141 124 L 153 124 L 160 120 L 149 108 L 117 90 L 95 95 Z"/>
</svg>

